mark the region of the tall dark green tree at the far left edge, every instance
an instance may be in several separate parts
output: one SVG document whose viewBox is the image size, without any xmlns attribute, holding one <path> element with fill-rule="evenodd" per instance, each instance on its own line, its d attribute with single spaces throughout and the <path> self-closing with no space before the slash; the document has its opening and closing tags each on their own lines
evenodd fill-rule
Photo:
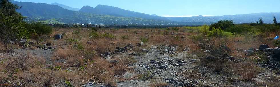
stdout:
<svg viewBox="0 0 280 87">
<path fill-rule="evenodd" d="M 28 38 L 28 31 L 23 27 L 24 17 L 17 13 L 17 5 L 13 5 L 10 0 L 0 0 L 0 41 L 4 43 L 6 51 L 9 52 L 13 44 L 8 47 L 7 41 L 15 41 L 19 38 Z"/>
</svg>

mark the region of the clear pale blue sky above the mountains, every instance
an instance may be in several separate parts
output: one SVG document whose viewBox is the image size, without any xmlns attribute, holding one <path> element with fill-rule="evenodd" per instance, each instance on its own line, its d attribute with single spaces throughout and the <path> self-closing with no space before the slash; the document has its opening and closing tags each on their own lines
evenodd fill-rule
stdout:
<svg viewBox="0 0 280 87">
<path fill-rule="evenodd" d="M 60 3 L 74 8 L 109 5 L 158 16 L 223 16 L 259 12 L 280 12 L 280 0 L 15 0 Z"/>
</svg>

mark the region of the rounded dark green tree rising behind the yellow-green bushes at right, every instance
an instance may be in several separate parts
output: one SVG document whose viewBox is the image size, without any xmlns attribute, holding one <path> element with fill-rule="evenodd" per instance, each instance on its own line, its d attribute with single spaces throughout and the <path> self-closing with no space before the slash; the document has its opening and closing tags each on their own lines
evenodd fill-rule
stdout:
<svg viewBox="0 0 280 87">
<path fill-rule="evenodd" d="M 221 28 L 222 30 L 225 30 L 226 28 L 230 27 L 230 26 L 234 26 L 234 22 L 232 20 L 220 20 L 217 23 L 211 24 L 210 25 L 210 30 L 212 30 L 213 28 Z"/>
</svg>

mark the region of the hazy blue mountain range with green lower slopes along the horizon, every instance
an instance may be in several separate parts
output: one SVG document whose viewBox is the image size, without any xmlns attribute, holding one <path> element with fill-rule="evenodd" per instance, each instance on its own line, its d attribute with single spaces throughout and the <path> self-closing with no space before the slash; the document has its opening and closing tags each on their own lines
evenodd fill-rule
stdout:
<svg viewBox="0 0 280 87">
<path fill-rule="evenodd" d="M 203 25 L 219 20 L 233 20 L 235 23 L 251 23 L 263 18 L 265 23 L 272 23 L 273 15 L 280 18 L 280 12 L 253 13 L 224 16 L 161 17 L 156 14 L 144 14 L 118 7 L 97 5 L 72 8 L 59 3 L 32 3 L 11 1 L 21 7 L 17 12 L 27 16 L 26 21 L 42 20 L 46 23 L 92 23 L 109 25 Z"/>
</svg>

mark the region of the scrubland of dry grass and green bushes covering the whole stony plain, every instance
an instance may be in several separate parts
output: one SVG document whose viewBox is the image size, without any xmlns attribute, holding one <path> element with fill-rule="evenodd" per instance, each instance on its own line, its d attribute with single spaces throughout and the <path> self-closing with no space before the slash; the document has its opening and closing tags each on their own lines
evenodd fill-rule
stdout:
<svg viewBox="0 0 280 87">
<path fill-rule="evenodd" d="M 10 10 L 5 12 L 3 2 L 0 4 L 0 86 L 79 87 L 91 82 L 116 87 L 122 86 L 118 83 L 130 80 L 147 81 L 147 86 L 152 87 L 179 86 L 173 77 L 175 81 L 170 82 L 168 77 L 153 76 L 157 69 L 173 70 L 163 65 L 150 66 L 152 69 L 146 73 L 135 70 L 139 66 L 133 64 L 149 63 L 142 59 L 145 59 L 146 54 L 152 55 L 149 54 L 152 48 L 160 49 L 161 56 L 170 60 L 180 53 L 186 53 L 178 61 L 187 61 L 186 64 L 190 64 L 188 67 L 191 68 L 181 71 L 177 76 L 193 81 L 180 81 L 184 83 L 183 86 L 280 85 L 278 54 L 269 55 L 274 47 L 279 47 L 280 41 L 273 40 L 280 30 L 277 22 L 263 24 L 260 19 L 257 23 L 234 24 L 231 20 L 221 20 L 200 27 L 57 28 L 41 22 L 25 23 L 20 14 Z M 58 34 L 62 37 L 56 39 Z M 272 49 L 262 51 L 259 48 L 262 44 Z M 169 54 L 164 46 L 177 50 Z M 45 58 L 46 54 L 34 54 L 44 49 L 50 50 L 52 55 Z M 153 62 L 159 60 L 151 59 Z M 276 66 L 271 67 L 270 64 Z M 136 75 L 122 78 L 127 72 Z"/>
</svg>

